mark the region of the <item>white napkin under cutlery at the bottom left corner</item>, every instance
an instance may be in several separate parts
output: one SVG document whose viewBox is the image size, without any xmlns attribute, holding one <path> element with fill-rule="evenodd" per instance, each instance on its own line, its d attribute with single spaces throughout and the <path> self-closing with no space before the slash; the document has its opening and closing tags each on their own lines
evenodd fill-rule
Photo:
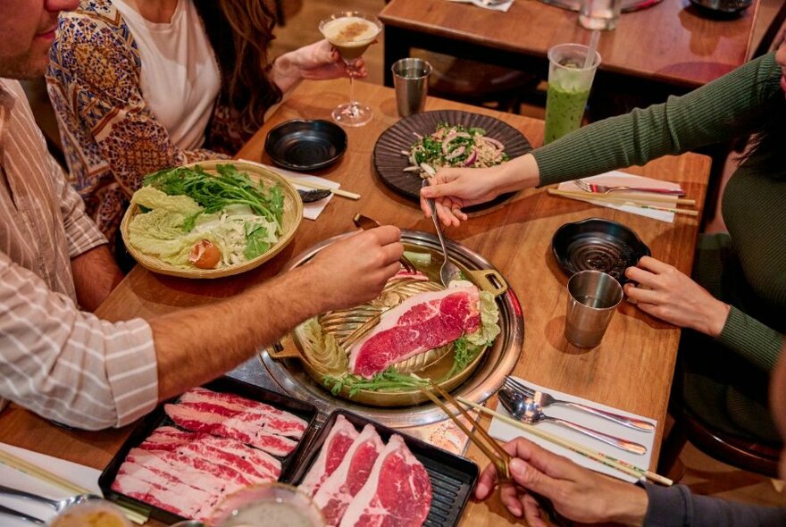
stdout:
<svg viewBox="0 0 786 527">
<path fill-rule="evenodd" d="M 101 475 L 101 471 L 95 468 L 71 463 L 71 461 L 58 459 L 57 457 L 38 454 L 38 452 L 13 447 L 5 443 L 0 443 L 0 449 L 14 456 L 21 457 L 25 461 L 46 468 L 49 472 L 65 478 L 80 487 L 90 489 L 90 491 L 97 496 L 101 496 L 101 489 L 98 488 L 98 476 Z M 0 463 L 0 481 L 2 481 L 6 487 L 25 490 L 46 498 L 63 499 L 70 496 L 67 490 L 55 487 L 38 478 L 29 476 L 26 473 L 21 473 L 2 463 Z M 40 518 L 44 521 L 48 521 L 54 516 L 54 509 L 52 507 L 38 504 L 27 499 L 0 495 L 0 505 L 11 507 L 14 510 Z M 3 525 L 3 527 L 30 527 L 30 523 L 23 521 L 21 518 L 7 516 L 5 514 L 0 514 L 0 525 Z"/>
</svg>

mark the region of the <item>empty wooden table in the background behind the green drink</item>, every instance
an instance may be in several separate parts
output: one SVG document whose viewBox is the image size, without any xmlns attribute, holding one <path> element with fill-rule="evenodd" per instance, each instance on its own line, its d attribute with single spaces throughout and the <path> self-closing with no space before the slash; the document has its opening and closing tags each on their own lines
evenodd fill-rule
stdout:
<svg viewBox="0 0 786 527">
<path fill-rule="evenodd" d="M 596 83 L 657 94 L 656 100 L 698 88 L 748 60 L 757 9 L 754 0 L 739 18 L 717 20 L 689 0 L 663 0 L 623 13 L 616 29 L 602 32 Z M 537 0 L 516 0 L 507 13 L 447 0 L 391 0 L 379 17 L 385 24 L 387 86 L 390 65 L 413 48 L 546 76 L 549 47 L 590 41 L 577 13 Z"/>
</svg>

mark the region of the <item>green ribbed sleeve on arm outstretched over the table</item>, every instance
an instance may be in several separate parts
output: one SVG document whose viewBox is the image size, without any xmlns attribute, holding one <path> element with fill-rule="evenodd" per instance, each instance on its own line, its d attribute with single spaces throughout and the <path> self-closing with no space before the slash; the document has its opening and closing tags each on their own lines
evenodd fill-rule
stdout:
<svg viewBox="0 0 786 527">
<path fill-rule="evenodd" d="M 734 138 L 734 122 L 756 108 L 781 76 L 774 54 L 746 63 L 685 96 L 594 122 L 535 150 L 540 185 L 645 164 Z"/>
</svg>

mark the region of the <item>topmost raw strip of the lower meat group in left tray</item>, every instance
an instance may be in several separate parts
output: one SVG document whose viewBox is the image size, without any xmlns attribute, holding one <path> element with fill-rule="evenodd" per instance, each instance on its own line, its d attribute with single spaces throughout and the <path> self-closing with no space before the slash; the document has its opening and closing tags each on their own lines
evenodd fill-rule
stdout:
<svg viewBox="0 0 786 527">
<path fill-rule="evenodd" d="M 281 462 L 267 452 L 248 447 L 236 439 L 217 438 L 207 433 L 181 431 L 162 426 L 153 431 L 139 448 L 175 450 L 202 455 L 215 464 L 228 464 L 247 476 L 275 481 L 281 474 Z"/>
</svg>

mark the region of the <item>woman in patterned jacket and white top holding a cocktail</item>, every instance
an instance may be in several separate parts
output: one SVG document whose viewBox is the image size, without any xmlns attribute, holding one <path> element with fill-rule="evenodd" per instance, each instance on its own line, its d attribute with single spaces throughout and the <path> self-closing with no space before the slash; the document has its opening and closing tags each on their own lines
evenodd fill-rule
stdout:
<svg viewBox="0 0 786 527">
<path fill-rule="evenodd" d="M 347 75 L 327 40 L 270 62 L 274 21 L 266 0 L 82 0 L 63 15 L 47 87 L 71 183 L 110 241 L 146 174 L 234 155 L 300 79 Z"/>
</svg>

